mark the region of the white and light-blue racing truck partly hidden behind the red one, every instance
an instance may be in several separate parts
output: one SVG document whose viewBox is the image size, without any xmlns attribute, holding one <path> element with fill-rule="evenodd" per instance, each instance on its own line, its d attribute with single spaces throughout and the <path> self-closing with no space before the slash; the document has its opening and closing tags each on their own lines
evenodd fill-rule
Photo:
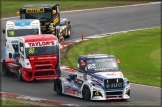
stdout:
<svg viewBox="0 0 162 107">
<path fill-rule="evenodd" d="M 4 58 L 9 58 L 9 53 L 12 53 L 12 57 L 16 57 L 19 55 L 18 37 L 41 34 L 40 21 L 37 19 L 9 20 L 6 22 L 6 29 L 2 31 L 5 33 L 6 38 Z"/>
</svg>

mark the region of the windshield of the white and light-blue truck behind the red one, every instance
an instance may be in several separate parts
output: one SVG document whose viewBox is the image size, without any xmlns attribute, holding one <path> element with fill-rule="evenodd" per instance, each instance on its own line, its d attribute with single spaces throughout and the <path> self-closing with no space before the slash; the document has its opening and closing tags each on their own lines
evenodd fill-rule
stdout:
<svg viewBox="0 0 162 107">
<path fill-rule="evenodd" d="M 7 30 L 8 37 L 19 37 L 19 36 L 25 36 L 25 35 L 34 35 L 39 34 L 38 29 L 13 29 L 13 30 Z"/>
</svg>

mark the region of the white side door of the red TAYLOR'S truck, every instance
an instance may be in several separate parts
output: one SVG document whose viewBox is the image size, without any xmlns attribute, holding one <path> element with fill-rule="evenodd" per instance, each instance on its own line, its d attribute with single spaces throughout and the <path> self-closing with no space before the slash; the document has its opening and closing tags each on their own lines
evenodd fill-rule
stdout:
<svg viewBox="0 0 162 107">
<path fill-rule="evenodd" d="M 25 52 L 24 52 L 24 43 L 20 42 L 19 43 L 19 53 L 20 53 L 20 58 L 19 58 L 19 63 L 22 65 L 22 67 L 25 66 Z"/>
</svg>

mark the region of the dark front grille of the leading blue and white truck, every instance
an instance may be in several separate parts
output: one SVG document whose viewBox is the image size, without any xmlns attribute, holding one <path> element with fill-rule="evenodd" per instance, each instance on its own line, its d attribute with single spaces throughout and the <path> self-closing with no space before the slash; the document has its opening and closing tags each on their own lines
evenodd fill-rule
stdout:
<svg viewBox="0 0 162 107">
<path fill-rule="evenodd" d="M 105 79 L 104 86 L 105 89 L 123 88 L 123 79 Z"/>
</svg>

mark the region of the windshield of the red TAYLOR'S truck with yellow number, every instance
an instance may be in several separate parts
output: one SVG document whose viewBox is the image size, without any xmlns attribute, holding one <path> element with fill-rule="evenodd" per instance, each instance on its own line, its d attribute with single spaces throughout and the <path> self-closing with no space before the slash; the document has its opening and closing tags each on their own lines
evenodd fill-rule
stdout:
<svg viewBox="0 0 162 107">
<path fill-rule="evenodd" d="M 57 54 L 57 46 L 30 47 L 25 48 L 26 57 L 36 55 Z"/>
</svg>

